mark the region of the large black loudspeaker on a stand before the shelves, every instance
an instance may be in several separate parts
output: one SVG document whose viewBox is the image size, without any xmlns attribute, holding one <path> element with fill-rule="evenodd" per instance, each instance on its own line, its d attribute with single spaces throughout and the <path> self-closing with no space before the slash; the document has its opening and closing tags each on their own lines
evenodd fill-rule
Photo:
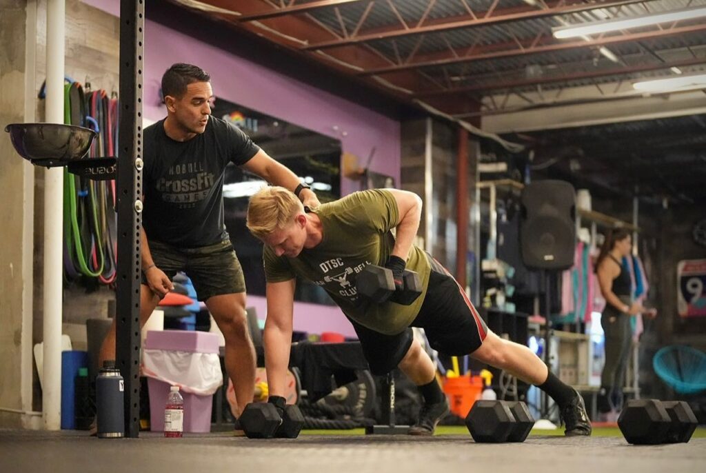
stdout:
<svg viewBox="0 0 706 473">
<path fill-rule="evenodd" d="M 576 246 L 576 192 L 566 181 L 537 181 L 522 189 L 520 249 L 528 268 L 566 270 Z"/>
</svg>

